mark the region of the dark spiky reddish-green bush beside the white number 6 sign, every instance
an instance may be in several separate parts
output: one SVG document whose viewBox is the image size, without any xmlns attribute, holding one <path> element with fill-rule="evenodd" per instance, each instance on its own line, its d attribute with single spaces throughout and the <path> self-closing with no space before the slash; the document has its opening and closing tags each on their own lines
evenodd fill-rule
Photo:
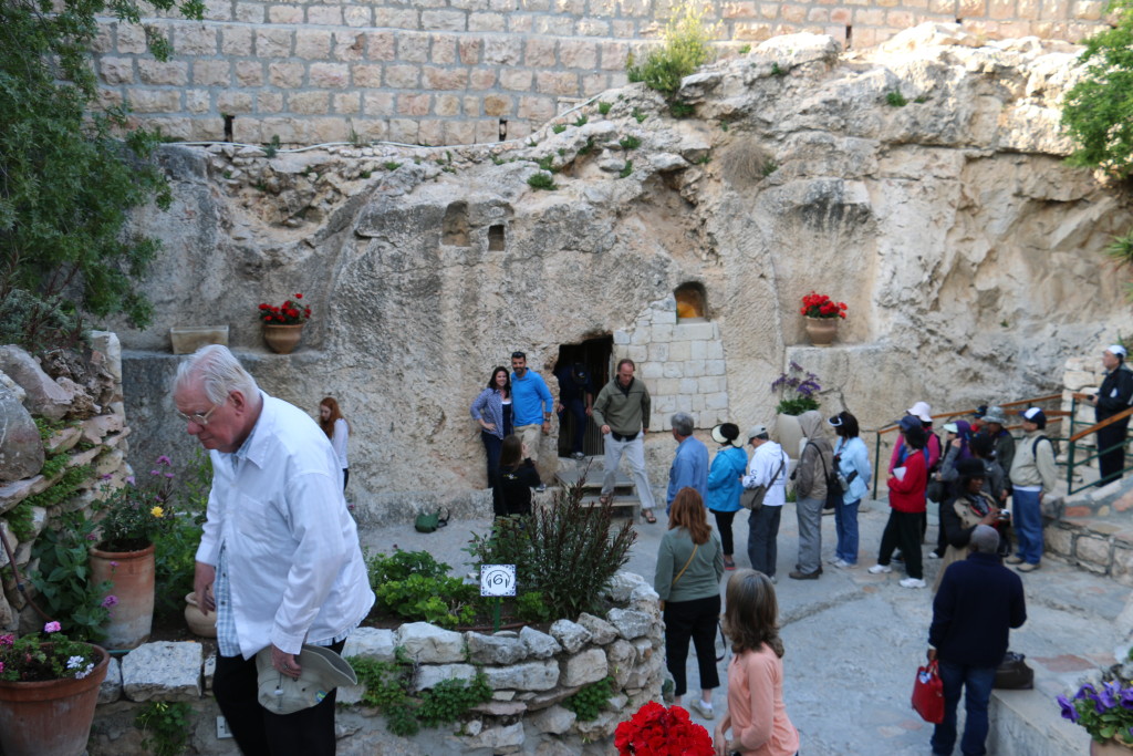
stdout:
<svg viewBox="0 0 1133 756">
<path fill-rule="evenodd" d="M 474 536 L 468 551 L 482 564 L 516 564 L 525 593 L 542 594 L 551 617 L 574 619 L 602 612 L 602 591 L 629 561 L 636 538 L 629 523 L 614 527 L 610 504 L 583 506 L 574 484 L 526 521 L 504 518 L 489 535 Z"/>
</svg>

